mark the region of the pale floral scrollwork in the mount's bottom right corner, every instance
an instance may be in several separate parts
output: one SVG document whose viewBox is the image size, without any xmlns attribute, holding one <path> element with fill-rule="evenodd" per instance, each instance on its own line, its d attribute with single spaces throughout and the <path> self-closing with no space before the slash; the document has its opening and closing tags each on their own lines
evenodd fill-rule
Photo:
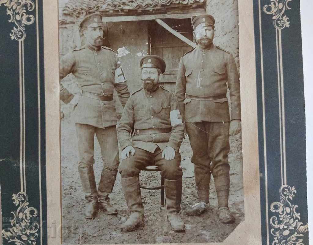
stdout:
<svg viewBox="0 0 313 245">
<path fill-rule="evenodd" d="M 304 233 L 308 231 L 308 223 L 300 222 L 300 213 L 296 212 L 298 205 L 293 205 L 289 200 L 295 197 L 295 187 L 283 185 L 280 187 L 280 202 L 270 205 L 272 212 L 277 216 L 270 218 L 271 234 L 274 236 L 272 245 L 305 245 L 302 243 Z M 278 220 L 279 219 L 279 220 Z"/>
</svg>

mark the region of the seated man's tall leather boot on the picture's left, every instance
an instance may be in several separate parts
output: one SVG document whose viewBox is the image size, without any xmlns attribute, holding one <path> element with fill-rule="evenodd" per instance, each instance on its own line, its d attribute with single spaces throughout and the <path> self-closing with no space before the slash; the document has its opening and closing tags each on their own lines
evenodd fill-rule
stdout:
<svg viewBox="0 0 313 245">
<path fill-rule="evenodd" d="M 133 231 L 145 225 L 139 176 L 121 178 L 121 184 L 127 207 L 131 211 L 131 216 L 121 225 L 121 229 L 122 231 Z"/>
</svg>

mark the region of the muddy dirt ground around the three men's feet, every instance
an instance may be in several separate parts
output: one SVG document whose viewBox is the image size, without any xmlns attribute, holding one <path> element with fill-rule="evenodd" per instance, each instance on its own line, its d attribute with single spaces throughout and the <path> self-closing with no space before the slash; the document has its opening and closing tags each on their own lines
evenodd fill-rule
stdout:
<svg viewBox="0 0 313 245">
<path fill-rule="evenodd" d="M 145 213 L 145 227 L 133 232 L 121 232 L 120 225 L 126 221 L 129 211 L 126 206 L 120 174 L 110 195 L 110 202 L 118 209 L 118 215 L 99 212 L 97 217 L 87 220 L 83 217 L 85 199 L 77 170 L 78 151 L 74 123 L 70 120 L 71 107 L 63 106 L 65 117 L 61 120 L 61 164 L 62 164 L 62 228 L 64 244 L 99 243 L 196 243 L 222 242 L 235 227 L 244 220 L 244 193 L 242 171 L 241 137 L 230 137 L 230 196 L 229 208 L 236 218 L 234 224 L 223 224 L 217 217 L 217 198 L 213 178 L 210 186 L 210 209 L 201 216 L 187 216 L 188 205 L 198 201 L 194 183 L 192 150 L 188 138 L 184 139 L 182 155 L 183 187 L 181 217 L 186 225 L 185 232 L 173 232 L 160 205 L 160 190 L 141 189 Z M 99 143 L 95 138 L 95 177 L 99 182 L 102 161 Z M 141 184 L 156 186 L 161 182 L 158 172 L 142 171 Z"/>
</svg>

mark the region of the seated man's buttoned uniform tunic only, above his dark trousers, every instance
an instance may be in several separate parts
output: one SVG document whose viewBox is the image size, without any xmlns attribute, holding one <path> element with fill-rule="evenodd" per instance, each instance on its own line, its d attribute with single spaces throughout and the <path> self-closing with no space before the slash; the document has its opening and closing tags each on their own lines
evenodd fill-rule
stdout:
<svg viewBox="0 0 313 245">
<path fill-rule="evenodd" d="M 154 152 L 157 147 L 161 150 L 171 146 L 178 152 L 184 134 L 184 124 L 171 126 L 170 112 L 178 109 L 174 94 L 163 87 L 154 92 L 147 92 L 143 88 L 131 95 L 124 108 L 118 137 L 121 150 L 132 145 Z M 170 129 L 170 133 L 139 134 L 130 139 L 131 129 Z"/>
</svg>

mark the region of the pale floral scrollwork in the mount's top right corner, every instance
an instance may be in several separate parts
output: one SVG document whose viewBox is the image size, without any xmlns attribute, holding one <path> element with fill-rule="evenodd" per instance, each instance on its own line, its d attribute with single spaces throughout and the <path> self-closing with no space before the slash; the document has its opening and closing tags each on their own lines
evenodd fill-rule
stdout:
<svg viewBox="0 0 313 245">
<path fill-rule="evenodd" d="M 271 0 L 271 3 L 264 5 L 263 11 L 266 14 L 273 14 L 274 26 L 276 29 L 284 29 L 289 27 L 289 18 L 284 15 L 286 9 L 291 9 L 288 3 L 291 0 Z"/>
</svg>

